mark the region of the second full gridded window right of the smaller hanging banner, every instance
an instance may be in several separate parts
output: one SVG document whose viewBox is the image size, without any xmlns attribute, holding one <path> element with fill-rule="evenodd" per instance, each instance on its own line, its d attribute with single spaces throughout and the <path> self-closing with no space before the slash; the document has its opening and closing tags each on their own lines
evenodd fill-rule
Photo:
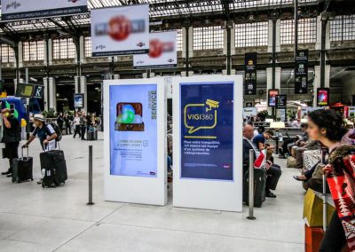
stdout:
<svg viewBox="0 0 355 252">
<path fill-rule="evenodd" d="M 235 24 L 235 47 L 267 45 L 268 22 Z"/>
</svg>

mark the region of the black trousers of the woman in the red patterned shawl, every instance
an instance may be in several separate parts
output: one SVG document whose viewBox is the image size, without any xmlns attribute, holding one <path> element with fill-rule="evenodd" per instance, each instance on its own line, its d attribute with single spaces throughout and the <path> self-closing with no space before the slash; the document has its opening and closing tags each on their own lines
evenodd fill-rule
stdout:
<svg viewBox="0 0 355 252">
<path fill-rule="evenodd" d="M 335 211 L 327 227 L 324 239 L 320 244 L 319 252 L 340 252 L 345 244 L 346 239 L 343 224 Z"/>
</svg>

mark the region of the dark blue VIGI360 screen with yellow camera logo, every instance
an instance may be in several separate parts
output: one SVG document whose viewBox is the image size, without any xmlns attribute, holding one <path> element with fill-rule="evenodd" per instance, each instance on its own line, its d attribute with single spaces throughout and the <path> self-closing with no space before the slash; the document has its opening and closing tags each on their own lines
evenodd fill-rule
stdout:
<svg viewBox="0 0 355 252">
<path fill-rule="evenodd" d="M 233 180 L 233 83 L 181 83 L 181 178 Z"/>
</svg>

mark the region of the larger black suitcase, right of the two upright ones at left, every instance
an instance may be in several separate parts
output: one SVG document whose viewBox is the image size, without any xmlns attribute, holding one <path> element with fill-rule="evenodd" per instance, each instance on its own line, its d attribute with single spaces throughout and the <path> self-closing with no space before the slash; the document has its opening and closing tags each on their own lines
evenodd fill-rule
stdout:
<svg viewBox="0 0 355 252">
<path fill-rule="evenodd" d="M 52 150 L 40 154 L 41 169 L 44 169 L 43 187 L 64 185 L 67 180 L 67 162 L 64 152 Z"/>
</svg>

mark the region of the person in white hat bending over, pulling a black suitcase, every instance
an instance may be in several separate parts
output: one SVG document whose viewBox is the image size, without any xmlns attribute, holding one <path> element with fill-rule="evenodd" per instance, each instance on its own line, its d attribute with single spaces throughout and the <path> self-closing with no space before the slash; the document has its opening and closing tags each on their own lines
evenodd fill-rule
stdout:
<svg viewBox="0 0 355 252">
<path fill-rule="evenodd" d="M 40 144 L 44 150 L 44 147 L 48 147 L 51 150 L 55 147 L 55 139 L 58 137 L 57 133 L 51 127 L 51 124 L 44 122 L 44 117 L 42 114 L 35 114 L 34 122 L 36 125 L 35 131 L 32 132 L 31 136 L 29 136 L 28 141 L 23 148 L 27 148 L 36 137 L 38 137 Z"/>
</svg>

